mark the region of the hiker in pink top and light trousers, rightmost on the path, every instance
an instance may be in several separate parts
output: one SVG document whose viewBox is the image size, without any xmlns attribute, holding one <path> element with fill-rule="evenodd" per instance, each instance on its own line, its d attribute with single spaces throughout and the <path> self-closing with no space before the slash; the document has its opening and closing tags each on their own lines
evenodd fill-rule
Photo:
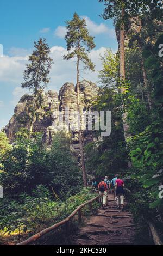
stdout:
<svg viewBox="0 0 163 256">
<path fill-rule="evenodd" d="M 115 183 L 116 187 L 116 204 L 117 208 L 124 210 L 124 181 L 120 179 L 119 175 L 117 175 L 117 180 Z"/>
</svg>

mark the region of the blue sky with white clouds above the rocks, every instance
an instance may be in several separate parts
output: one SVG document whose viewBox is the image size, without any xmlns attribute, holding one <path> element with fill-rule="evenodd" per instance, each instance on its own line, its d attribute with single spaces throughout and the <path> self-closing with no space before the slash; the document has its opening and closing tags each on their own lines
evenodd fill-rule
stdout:
<svg viewBox="0 0 163 256">
<path fill-rule="evenodd" d="M 23 70 L 34 41 L 40 37 L 46 38 L 54 60 L 46 90 L 58 92 L 64 83 L 76 83 L 74 60 L 63 60 L 66 53 L 65 21 L 71 20 L 74 12 L 86 19 L 96 44 L 89 54 L 96 71 L 81 72 L 80 80 L 98 84 L 98 71 L 102 69 L 100 56 L 104 56 L 105 48 L 117 50 L 113 22 L 99 16 L 104 5 L 98 0 L 5 0 L 1 1 L 0 8 L 0 130 L 8 124 L 20 97 L 28 93 L 27 89 L 21 88 Z"/>
</svg>

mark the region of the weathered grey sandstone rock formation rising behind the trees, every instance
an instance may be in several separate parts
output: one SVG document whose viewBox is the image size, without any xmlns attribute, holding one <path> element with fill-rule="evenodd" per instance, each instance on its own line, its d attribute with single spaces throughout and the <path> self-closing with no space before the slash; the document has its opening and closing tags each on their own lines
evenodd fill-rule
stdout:
<svg viewBox="0 0 163 256">
<path fill-rule="evenodd" d="M 79 87 L 80 108 L 81 111 L 85 111 L 86 101 L 96 96 L 98 89 L 95 83 L 87 80 L 81 81 Z M 9 124 L 3 129 L 10 142 L 14 140 L 15 133 L 23 127 L 33 132 L 43 132 L 43 141 L 50 145 L 55 132 L 61 129 L 59 116 L 58 114 L 54 115 L 54 113 L 60 112 L 65 117 L 65 109 L 68 108 L 70 114 L 74 114 L 77 111 L 76 91 L 77 88 L 73 83 L 65 83 L 61 87 L 59 94 L 53 90 L 49 90 L 47 93 L 43 92 L 42 107 L 39 107 L 39 109 L 35 108 L 36 103 L 33 95 L 25 94 L 22 96 L 15 107 L 14 115 L 10 119 Z M 77 123 L 77 117 L 73 121 Z M 71 133 L 73 141 L 71 149 L 74 155 L 78 156 L 80 153 L 78 132 L 71 131 Z M 85 131 L 84 143 L 90 141 L 92 141 L 92 135 L 90 132 Z"/>
</svg>

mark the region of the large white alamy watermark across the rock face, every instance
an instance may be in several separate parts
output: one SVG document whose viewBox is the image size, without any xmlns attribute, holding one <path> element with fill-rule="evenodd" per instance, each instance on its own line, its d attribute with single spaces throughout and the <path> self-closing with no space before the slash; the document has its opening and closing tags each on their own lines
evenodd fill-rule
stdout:
<svg viewBox="0 0 163 256">
<path fill-rule="evenodd" d="M 57 131 L 101 131 L 101 136 L 111 134 L 111 112 L 110 111 L 83 111 L 78 112 L 68 107 L 64 111 L 53 112 L 52 126 Z"/>
</svg>

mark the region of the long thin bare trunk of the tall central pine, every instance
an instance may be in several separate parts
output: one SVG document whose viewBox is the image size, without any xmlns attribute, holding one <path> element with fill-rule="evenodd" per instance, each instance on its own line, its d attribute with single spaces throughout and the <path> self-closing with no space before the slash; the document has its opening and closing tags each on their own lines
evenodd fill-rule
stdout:
<svg viewBox="0 0 163 256">
<path fill-rule="evenodd" d="M 84 160 L 84 150 L 83 150 L 83 138 L 81 130 L 81 117 L 80 117 L 80 99 L 79 99 L 79 58 L 77 60 L 77 110 L 78 110 L 78 133 L 79 133 L 79 145 L 80 145 L 80 155 L 82 160 L 82 173 L 83 173 L 83 183 L 87 186 L 86 181 L 86 170 L 85 170 L 85 160 Z"/>
</svg>

